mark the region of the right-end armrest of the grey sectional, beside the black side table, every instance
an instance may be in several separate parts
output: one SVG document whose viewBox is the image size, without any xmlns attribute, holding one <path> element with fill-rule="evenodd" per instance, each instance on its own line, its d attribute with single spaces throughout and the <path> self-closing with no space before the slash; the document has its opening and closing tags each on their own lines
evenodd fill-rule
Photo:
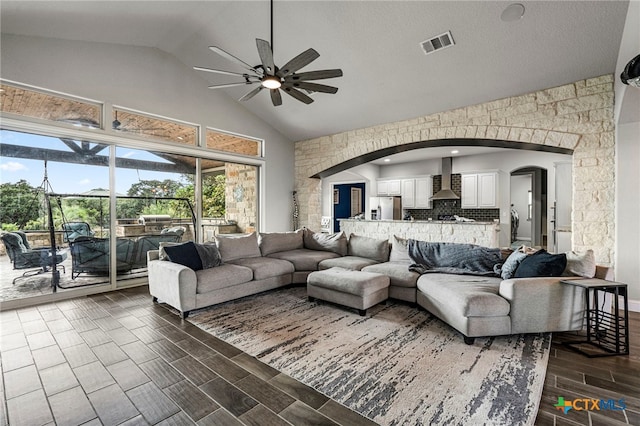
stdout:
<svg viewBox="0 0 640 426">
<path fill-rule="evenodd" d="M 500 296 L 511 305 L 511 333 L 580 330 L 585 311 L 584 289 L 560 283 L 575 278 L 580 277 L 503 280 Z"/>
</svg>

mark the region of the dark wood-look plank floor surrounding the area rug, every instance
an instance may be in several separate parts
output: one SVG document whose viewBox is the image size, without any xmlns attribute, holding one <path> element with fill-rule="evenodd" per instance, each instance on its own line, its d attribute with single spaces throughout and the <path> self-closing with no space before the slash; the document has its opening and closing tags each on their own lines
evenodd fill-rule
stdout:
<svg viewBox="0 0 640 426">
<path fill-rule="evenodd" d="M 557 334 L 536 423 L 640 425 L 640 314 L 631 355 L 589 359 Z M 0 313 L 0 425 L 371 425 L 373 422 L 203 332 L 146 287 Z M 565 399 L 624 399 L 574 411 Z"/>
</svg>

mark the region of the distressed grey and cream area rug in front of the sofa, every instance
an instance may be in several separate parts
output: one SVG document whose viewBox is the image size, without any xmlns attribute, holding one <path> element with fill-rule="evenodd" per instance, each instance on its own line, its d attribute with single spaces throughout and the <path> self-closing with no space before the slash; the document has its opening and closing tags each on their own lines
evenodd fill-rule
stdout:
<svg viewBox="0 0 640 426">
<path fill-rule="evenodd" d="M 388 301 L 356 311 L 275 290 L 189 321 L 382 425 L 527 425 L 536 418 L 550 334 L 462 336 Z"/>
</svg>

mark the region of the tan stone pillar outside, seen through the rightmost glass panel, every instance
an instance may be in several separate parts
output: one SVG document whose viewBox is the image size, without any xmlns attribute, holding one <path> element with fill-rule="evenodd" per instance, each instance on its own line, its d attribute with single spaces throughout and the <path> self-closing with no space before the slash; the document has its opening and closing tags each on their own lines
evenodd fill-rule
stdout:
<svg viewBox="0 0 640 426">
<path fill-rule="evenodd" d="M 258 218 L 258 169 L 243 164 L 225 164 L 226 219 L 235 220 L 237 232 L 253 232 Z"/>
</svg>

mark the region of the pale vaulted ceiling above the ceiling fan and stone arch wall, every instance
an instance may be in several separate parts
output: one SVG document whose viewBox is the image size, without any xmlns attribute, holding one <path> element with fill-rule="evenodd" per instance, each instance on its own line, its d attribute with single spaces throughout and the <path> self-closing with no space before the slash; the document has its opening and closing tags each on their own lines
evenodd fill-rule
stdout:
<svg viewBox="0 0 640 426">
<path fill-rule="evenodd" d="M 627 1 L 521 1 L 503 22 L 503 1 L 282 1 L 274 5 L 274 57 L 283 65 L 313 47 L 303 68 L 342 68 L 311 105 L 267 93 L 243 106 L 298 141 L 414 118 L 615 71 Z M 269 40 L 269 2 L 7 1 L 3 33 L 149 46 L 194 65 L 242 71 L 207 47 L 252 65 Z M 450 30 L 456 45 L 424 55 L 420 42 Z M 203 89 L 234 77 L 197 73 Z M 252 86 L 255 87 L 255 86 Z M 250 89 L 223 90 L 238 99 Z"/>
</svg>

